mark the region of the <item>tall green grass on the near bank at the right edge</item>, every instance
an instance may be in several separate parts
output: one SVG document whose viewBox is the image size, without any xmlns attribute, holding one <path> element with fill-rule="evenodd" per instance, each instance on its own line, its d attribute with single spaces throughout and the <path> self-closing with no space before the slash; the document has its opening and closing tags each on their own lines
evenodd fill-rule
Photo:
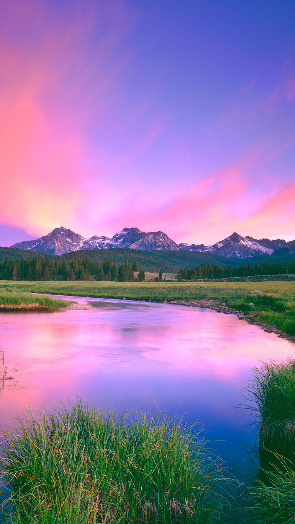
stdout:
<svg viewBox="0 0 295 524">
<path fill-rule="evenodd" d="M 256 407 L 260 471 L 252 490 L 257 521 L 295 522 L 295 359 L 255 369 L 247 388 Z"/>
</svg>

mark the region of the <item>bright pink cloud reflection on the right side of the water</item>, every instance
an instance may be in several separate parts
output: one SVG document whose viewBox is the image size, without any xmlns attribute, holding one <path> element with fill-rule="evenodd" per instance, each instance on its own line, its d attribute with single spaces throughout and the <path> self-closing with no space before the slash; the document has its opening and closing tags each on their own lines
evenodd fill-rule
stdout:
<svg viewBox="0 0 295 524">
<path fill-rule="evenodd" d="M 158 340 L 161 336 L 160 328 L 145 333 L 145 342 L 150 345 L 145 358 L 168 362 L 196 377 L 240 380 L 245 370 L 259 366 L 261 361 L 281 361 L 294 353 L 293 343 L 235 315 L 202 309 L 195 315 L 187 310 L 180 309 L 187 319 L 171 326 L 160 344 L 155 344 L 155 335 Z"/>
</svg>

